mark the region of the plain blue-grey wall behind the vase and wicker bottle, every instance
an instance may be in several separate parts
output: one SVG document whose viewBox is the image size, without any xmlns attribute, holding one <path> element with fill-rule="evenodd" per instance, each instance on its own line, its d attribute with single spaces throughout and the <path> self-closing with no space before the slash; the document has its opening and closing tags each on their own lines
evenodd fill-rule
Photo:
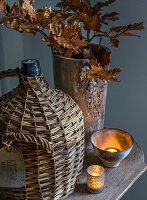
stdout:
<svg viewBox="0 0 147 200">
<path fill-rule="evenodd" d="M 53 6 L 56 2 L 36 0 L 37 6 Z M 106 8 L 107 11 L 121 13 L 121 22 L 117 24 L 122 25 L 142 20 L 147 25 L 146 9 L 147 0 L 116 0 L 111 8 Z M 112 49 L 111 66 L 123 67 L 124 71 L 119 84 L 109 84 L 105 127 L 120 128 L 131 133 L 147 156 L 147 29 L 141 35 L 141 38 L 123 37 L 119 49 Z M 107 44 L 107 41 L 104 43 Z M 53 85 L 51 51 L 40 42 L 40 36 L 22 35 L 0 26 L 0 70 L 15 68 L 22 59 L 30 57 L 40 60 L 45 78 Z M 16 79 L 1 81 L 0 93 L 16 84 Z M 146 185 L 147 176 L 144 174 L 122 199 L 146 200 Z"/>
</svg>

